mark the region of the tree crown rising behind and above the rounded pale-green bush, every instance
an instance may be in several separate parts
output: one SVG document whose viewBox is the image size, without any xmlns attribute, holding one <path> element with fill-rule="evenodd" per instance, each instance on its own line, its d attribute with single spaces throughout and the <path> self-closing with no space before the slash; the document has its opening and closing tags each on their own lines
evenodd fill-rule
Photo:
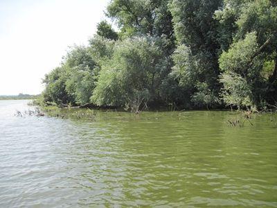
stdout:
<svg viewBox="0 0 277 208">
<path fill-rule="evenodd" d="M 175 49 L 175 33 L 169 0 L 113 0 L 107 6 L 107 16 L 115 19 L 120 36 L 150 35 L 163 37 L 167 55 Z"/>
</svg>

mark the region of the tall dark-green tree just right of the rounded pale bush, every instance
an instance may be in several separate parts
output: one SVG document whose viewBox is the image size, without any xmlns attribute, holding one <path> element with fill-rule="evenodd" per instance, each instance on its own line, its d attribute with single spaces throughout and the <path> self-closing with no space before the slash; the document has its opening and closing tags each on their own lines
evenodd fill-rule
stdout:
<svg viewBox="0 0 277 208">
<path fill-rule="evenodd" d="M 217 80 L 220 74 L 217 62 L 220 51 L 217 33 L 220 24 L 214 18 L 214 13 L 221 6 L 221 0 L 174 0 L 170 6 L 179 42 L 173 55 L 173 73 L 179 78 L 180 85 L 186 86 L 189 94 L 196 93 L 195 97 L 202 89 L 199 88 L 199 83 L 205 83 L 215 95 L 220 91 Z M 199 100 L 195 104 L 199 105 Z"/>
</svg>

